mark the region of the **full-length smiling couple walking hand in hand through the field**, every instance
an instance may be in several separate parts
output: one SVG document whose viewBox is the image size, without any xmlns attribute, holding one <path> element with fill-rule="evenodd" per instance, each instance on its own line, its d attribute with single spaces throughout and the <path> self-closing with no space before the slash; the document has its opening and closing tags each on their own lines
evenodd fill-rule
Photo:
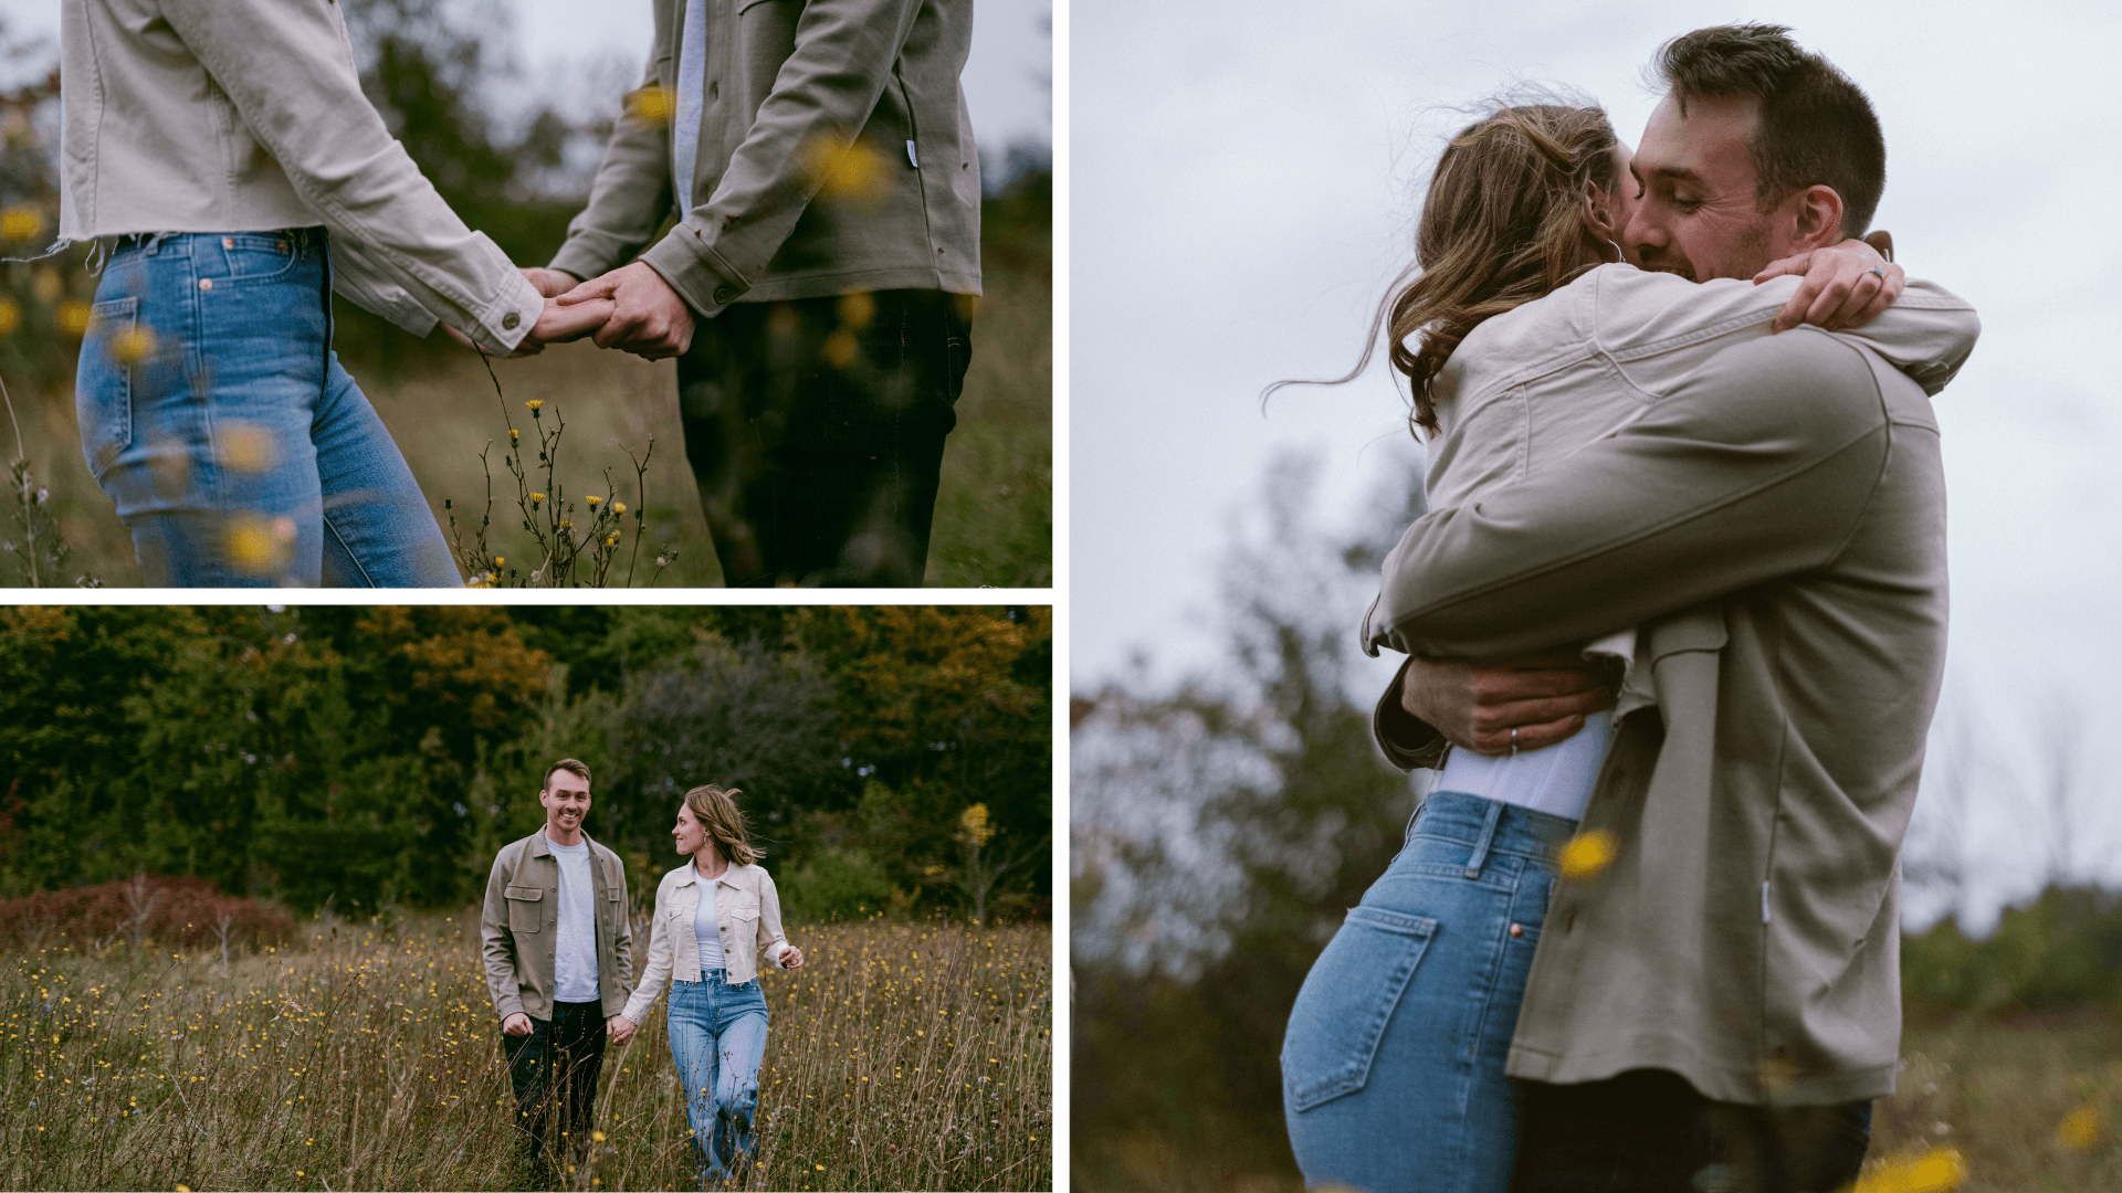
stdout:
<svg viewBox="0 0 2122 1193">
<path fill-rule="evenodd" d="M 605 1042 L 632 1040 L 668 983 L 671 1059 L 700 1189 L 745 1182 L 768 1023 L 758 951 L 794 970 L 802 949 L 781 934 L 781 896 L 745 838 L 738 794 L 715 785 L 685 792 L 671 838 L 692 860 L 656 887 L 639 985 L 626 868 L 581 830 L 590 815 L 584 762 L 562 758 L 545 771 L 545 826 L 494 855 L 480 940 L 533 1180 L 579 1168 Z M 545 1140 L 554 1110 L 558 1161 Z"/>
</svg>

